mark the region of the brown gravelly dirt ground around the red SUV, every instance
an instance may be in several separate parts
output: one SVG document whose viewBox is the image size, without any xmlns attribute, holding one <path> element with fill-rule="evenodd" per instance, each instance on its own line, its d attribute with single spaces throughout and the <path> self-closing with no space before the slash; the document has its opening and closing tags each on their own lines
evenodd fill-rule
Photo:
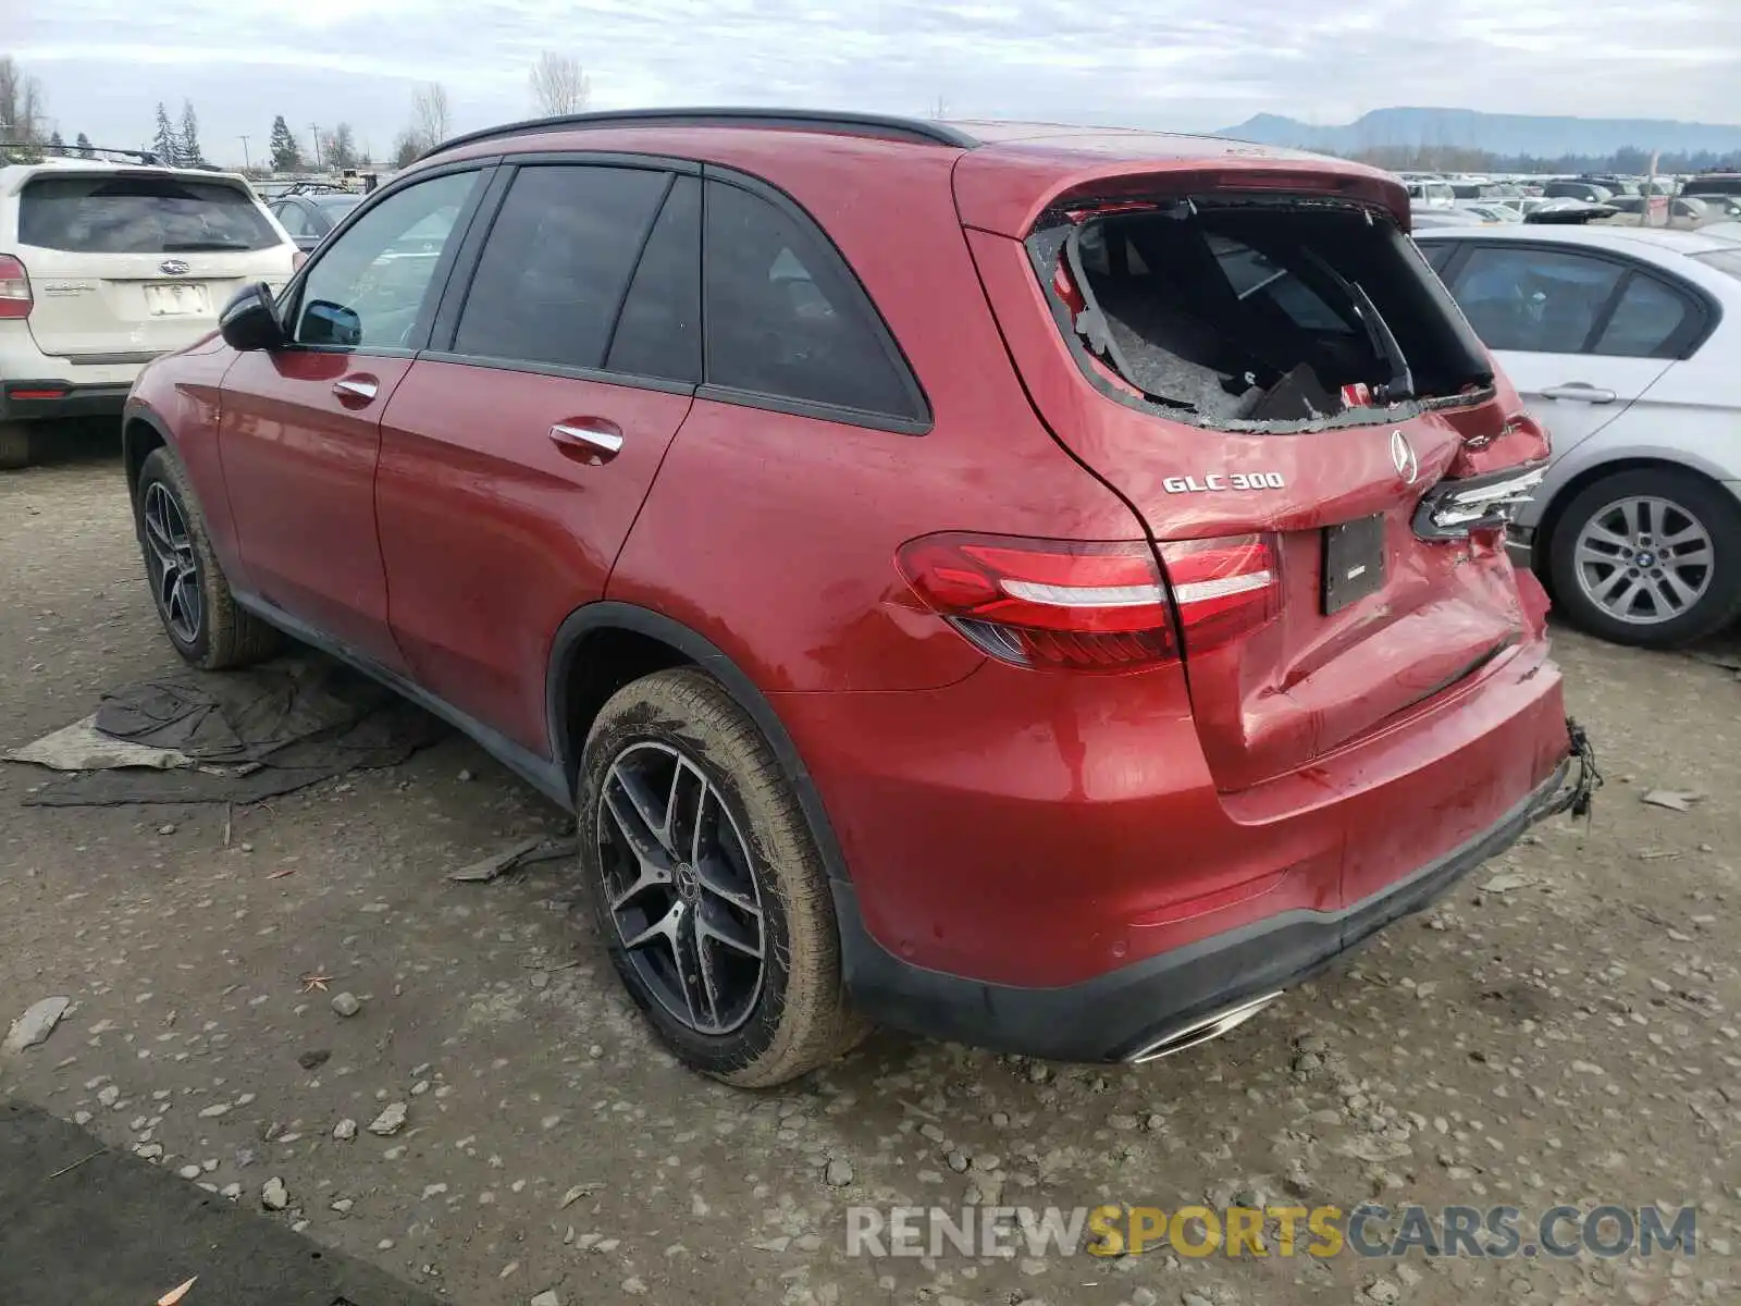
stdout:
<svg viewBox="0 0 1741 1306">
<path fill-rule="evenodd" d="M 0 479 L 0 749 L 174 665 L 103 444 Z M 0 1094 L 244 1203 L 280 1181 L 272 1219 L 482 1306 L 1736 1301 L 1741 683 L 1556 648 L 1609 775 L 1593 820 L 1537 827 L 1233 1036 L 1144 1067 L 881 1033 L 782 1094 L 702 1081 L 634 1017 L 564 864 L 444 879 L 562 825 L 456 738 L 239 808 L 230 846 L 223 808 L 28 808 L 45 775 L 0 766 L 0 1029 L 73 1000 L 0 1057 Z M 371 1134 L 395 1102 L 404 1128 Z M 975 1200 L 1509 1203 L 1525 1224 L 1691 1203 L 1699 1250 L 846 1256 L 851 1203 Z"/>
</svg>

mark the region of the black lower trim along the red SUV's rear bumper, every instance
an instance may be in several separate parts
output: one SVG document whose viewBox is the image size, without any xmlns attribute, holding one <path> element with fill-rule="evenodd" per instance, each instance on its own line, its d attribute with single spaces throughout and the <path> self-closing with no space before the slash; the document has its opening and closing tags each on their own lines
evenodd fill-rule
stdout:
<svg viewBox="0 0 1741 1306">
<path fill-rule="evenodd" d="M 1391 921 L 1428 907 L 1536 820 L 1570 806 L 1563 792 L 1570 771 L 1567 759 L 1489 829 L 1339 912 L 1280 912 L 1060 987 L 987 984 L 902 961 L 865 930 L 855 886 L 834 881 L 846 986 L 864 1015 L 916 1034 L 1052 1060 L 1123 1060 L 1168 1031 L 1309 979 Z M 1583 782 L 1572 792 L 1581 789 Z"/>
</svg>

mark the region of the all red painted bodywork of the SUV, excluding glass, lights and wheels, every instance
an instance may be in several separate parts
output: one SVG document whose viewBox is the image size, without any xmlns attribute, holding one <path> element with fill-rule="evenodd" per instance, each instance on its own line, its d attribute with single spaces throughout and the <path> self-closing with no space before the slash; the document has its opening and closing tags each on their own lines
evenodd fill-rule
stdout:
<svg viewBox="0 0 1741 1306">
<path fill-rule="evenodd" d="M 1306 176 L 1407 221 L 1402 188 L 1236 143 L 977 129 L 991 145 L 971 151 L 635 125 L 440 157 L 637 151 L 766 179 L 818 221 L 883 313 L 928 401 L 919 435 L 705 390 L 221 345 L 146 369 L 134 404 L 171 430 L 237 589 L 534 756 L 557 744 L 545 688 L 571 611 L 622 601 L 710 641 L 790 735 L 865 928 L 912 973 L 1092 980 L 1281 912 L 1337 912 L 1492 827 L 1569 749 L 1539 585 L 1494 538 L 1414 536 L 1396 425 L 1231 435 L 1099 394 L 1017 239 L 1060 195 L 1116 197 L 1158 172 Z M 352 411 L 331 385 L 357 373 L 380 395 Z M 1516 394 L 1496 390 L 1400 423 L 1422 489 L 1543 456 L 1537 430 L 1506 430 Z M 613 460 L 587 465 L 552 442 L 552 425 L 583 420 L 622 430 Z M 1278 472 L 1285 488 L 1166 489 L 1238 470 Z M 1327 616 L 1321 529 L 1372 514 L 1395 569 L 1381 594 Z M 938 531 L 1262 533 L 1281 615 L 1135 674 L 1022 669 L 902 578 L 897 550 Z"/>
</svg>

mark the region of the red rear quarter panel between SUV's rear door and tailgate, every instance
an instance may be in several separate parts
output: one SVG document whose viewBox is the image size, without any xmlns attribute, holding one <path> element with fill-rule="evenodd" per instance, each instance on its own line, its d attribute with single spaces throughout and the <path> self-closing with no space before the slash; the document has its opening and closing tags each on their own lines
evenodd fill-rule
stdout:
<svg viewBox="0 0 1741 1306">
<path fill-rule="evenodd" d="M 958 681 L 984 655 L 919 606 L 895 569 L 902 543 L 938 529 L 1137 540 L 1142 526 L 1022 394 L 954 212 L 952 153 L 841 139 L 792 158 L 785 132 L 691 136 L 719 138 L 820 219 L 935 425 L 902 435 L 698 399 L 609 596 L 707 636 L 770 693 Z M 881 200 L 865 192 L 870 157 L 888 178 Z"/>
</svg>

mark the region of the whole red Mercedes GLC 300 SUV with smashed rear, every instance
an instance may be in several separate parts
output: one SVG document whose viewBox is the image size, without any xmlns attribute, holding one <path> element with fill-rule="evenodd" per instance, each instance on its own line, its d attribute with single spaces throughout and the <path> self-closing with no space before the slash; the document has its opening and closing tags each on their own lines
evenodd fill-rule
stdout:
<svg viewBox="0 0 1741 1306">
<path fill-rule="evenodd" d="M 1588 799 L 1502 547 L 1546 435 L 1407 225 L 1137 131 L 474 132 L 139 378 L 151 590 L 569 804 L 705 1073 L 1146 1060 Z"/>
</svg>

